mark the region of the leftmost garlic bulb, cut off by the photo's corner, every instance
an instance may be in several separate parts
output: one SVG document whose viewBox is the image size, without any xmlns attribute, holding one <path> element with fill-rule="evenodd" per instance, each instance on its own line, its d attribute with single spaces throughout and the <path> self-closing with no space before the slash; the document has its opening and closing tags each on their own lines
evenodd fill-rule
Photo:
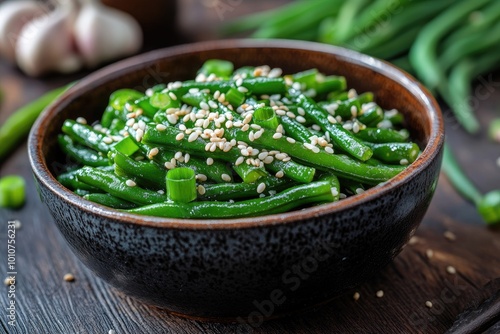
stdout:
<svg viewBox="0 0 500 334">
<path fill-rule="evenodd" d="M 32 0 L 12 0 L 0 4 L 0 54 L 14 62 L 19 33 L 25 24 L 47 12 L 41 3 Z"/>
</svg>

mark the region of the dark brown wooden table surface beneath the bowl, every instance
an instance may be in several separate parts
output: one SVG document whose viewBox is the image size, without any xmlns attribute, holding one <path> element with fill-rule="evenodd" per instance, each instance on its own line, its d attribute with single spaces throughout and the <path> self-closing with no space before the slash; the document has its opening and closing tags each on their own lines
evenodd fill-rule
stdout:
<svg viewBox="0 0 500 334">
<path fill-rule="evenodd" d="M 262 1 L 258 3 L 264 6 Z M 235 8 L 231 15 L 242 10 Z M 197 20 L 189 12 L 184 15 Z M 217 20 L 214 12 L 210 15 Z M 0 61 L 0 88 L 5 93 L 0 123 L 48 89 L 84 74 L 30 79 Z M 478 82 L 482 94 L 476 94 L 474 102 L 485 129 L 489 121 L 500 116 L 500 75 L 483 78 L 490 83 Z M 467 135 L 443 109 L 447 141 L 467 173 L 482 191 L 500 188 L 500 166 L 496 162 L 500 145 L 488 141 L 486 134 Z M 500 282 L 495 281 L 500 277 L 500 230 L 487 228 L 473 205 L 458 196 L 441 175 L 411 244 L 394 263 L 345 296 L 258 328 L 186 320 L 117 292 L 70 252 L 37 196 L 25 143 L 6 161 L 0 161 L 0 176 L 8 174 L 24 176 L 28 194 L 21 210 L 0 209 L 0 276 L 7 276 L 9 271 L 8 222 L 21 222 L 15 233 L 15 290 L 10 290 L 15 294 L 16 323 L 9 325 L 6 308 L 12 299 L 9 287 L 4 286 L 0 292 L 0 333 L 108 333 L 111 329 L 116 333 L 443 333 L 462 311 L 479 305 L 500 288 Z M 445 237 L 448 231 L 454 240 Z M 448 266 L 456 268 L 456 273 L 450 274 Z M 72 273 L 76 280 L 64 281 L 66 273 Z M 381 298 L 376 295 L 379 290 L 384 292 Z M 357 301 L 354 292 L 360 294 Z M 426 306 L 427 301 L 432 302 L 432 308 Z M 496 325 L 489 333 L 500 332 L 498 321 L 493 321 Z"/>
</svg>

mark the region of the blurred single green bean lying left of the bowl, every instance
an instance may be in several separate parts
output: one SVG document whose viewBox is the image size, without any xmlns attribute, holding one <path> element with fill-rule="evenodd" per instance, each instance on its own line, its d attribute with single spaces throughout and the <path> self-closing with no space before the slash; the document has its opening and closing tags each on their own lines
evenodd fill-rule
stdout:
<svg viewBox="0 0 500 334">
<path fill-rule="evenodd" d="M 4 160 L 17 147 L 19 141 L 26 137 L 40 113 L 72 85 L 71 83 L 45 93 L 7 118 L 5 123 L 0 126 L 0 143 L 2 143 L 0 145 L 0 161 Z"/>
</svg>

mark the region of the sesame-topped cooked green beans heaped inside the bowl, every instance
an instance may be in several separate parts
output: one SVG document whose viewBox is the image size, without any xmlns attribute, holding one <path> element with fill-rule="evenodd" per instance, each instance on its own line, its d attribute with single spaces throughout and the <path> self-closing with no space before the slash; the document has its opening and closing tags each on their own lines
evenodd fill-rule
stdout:
<svg viewBox="0 0 500 334">
<path fill-rule="evenodd" d="M 208 60 L 195 80 L 113 92 L 93 124 L 66 120 L 58 139 L 73 163 L 58 180 L 141 215 L 280 213 L 399 174 L 420 153 L 403 125 L 401 113 L 348 90 L 344 77 Z"/>
</svg>

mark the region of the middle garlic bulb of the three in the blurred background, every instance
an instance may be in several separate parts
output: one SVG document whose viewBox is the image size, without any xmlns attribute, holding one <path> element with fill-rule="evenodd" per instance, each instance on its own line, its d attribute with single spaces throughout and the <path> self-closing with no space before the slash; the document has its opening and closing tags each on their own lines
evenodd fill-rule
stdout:
<svg viewBox="0 0 500 334">
<path fill-rule="evenodd" d="M 16 60 L 26 74 L 70 73 L 82 67 L 72 36 L 76 13 L 76 6 L 67 2 L 23 27 L 16 45 Z"/>
</svg>

